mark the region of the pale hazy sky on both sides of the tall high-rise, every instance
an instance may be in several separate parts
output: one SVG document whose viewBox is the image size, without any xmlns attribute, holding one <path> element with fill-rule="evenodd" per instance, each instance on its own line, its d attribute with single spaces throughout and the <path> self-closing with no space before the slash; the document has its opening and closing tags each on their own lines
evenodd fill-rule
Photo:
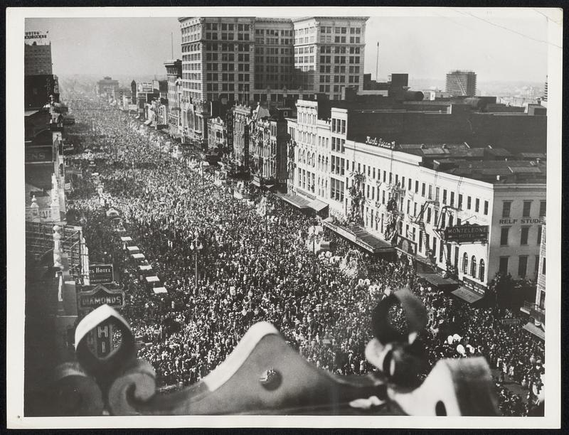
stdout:
<svg viewBox="0 0 569 435">
<path fill-rule="evenodd" d="M 402 15 L 404 12 L 402 13 Z M 547 18 L 488 16 L 454 9 L 450 16 L 372 16 L 366 26 L 365 72 L 444 79 L 451 69 L 476 71 L 479 82 L 544 82 Z M 28 18 L 26 31 L 49 31 L 53 71 L 66 75 L 164 75 L 164 60 L 181 57 L 177 18 Z"/>
</svg>

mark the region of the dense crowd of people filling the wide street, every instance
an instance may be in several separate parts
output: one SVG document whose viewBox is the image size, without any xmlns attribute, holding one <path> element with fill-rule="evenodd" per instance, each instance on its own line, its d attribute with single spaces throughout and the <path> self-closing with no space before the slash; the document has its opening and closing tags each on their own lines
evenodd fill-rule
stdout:
<svg viewBox="0 0 569 435">
<path fill-rule="evenodd" d="M 307 250 L 314 218 L 274 196 L 267 197 L 272 214 L 260 215 L 251 203 L 258 203 L 260 193 L 251 193 L 249 200 L 234 198 L 230 181 L 218 186 L 213 173 L 196 171 L 186 157 L 174 159 L 163 151 L 170 138 L 94 104 L 69 104 L 80 109 L 75 128 L 83 120 L 92 132 L 78 152 L 90 146 L 95 165 L 85 164 L 82 154 L 69 157 L 68 166 L 81 176 L 70 194 L 68 219 L 83 220 L 90 262 L 115 264 L 127 294 L 122 315 L 146 343 L 139 357 L 154 366 L 159 386 L 198 382 L 258 321 L 273 323 L 316 367 L 366 375 L 375 370 L 364 357 L 373 337 L 373 308 L 385 289 L 408 285 L 429 313 L 420 340 L 430 367 L 441 358 L 484 355 L 496 374 L 501 412 L 528 412 L 527 398 L 511 394 L 504 382 L 507 377 L 526 392 L 541 389 L 544 346 L 521 326 L 501 324 L 511 312 L 450 299 L 418 281 L 406 259 L 387 262 L 363 254 L 367 279 L 381 289 L 371 293 L 326 257 L 315 259 Z M 95 171 L 105 195 L 92 184 Z M 153 294 L 144 281 L 112 231 L 109 207 L 120 211 L 167 294 Z M 335 256 L 354 249 L 328 230 L 324 237 Z M 404 328 L 401 313 L 392 321 Z"/>
</svg>

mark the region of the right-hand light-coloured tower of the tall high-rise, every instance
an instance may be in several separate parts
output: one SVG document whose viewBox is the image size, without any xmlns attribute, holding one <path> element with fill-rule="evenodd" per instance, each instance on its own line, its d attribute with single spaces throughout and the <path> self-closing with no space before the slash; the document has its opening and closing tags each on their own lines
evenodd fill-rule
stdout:
<svg viewBox="0 0 569 435">
<path fill-rule="evenodd" d="M 362 89 L 368 17 L 294 18 L 295 87 L 340 100 L 344 87 Z"/>
</svg>

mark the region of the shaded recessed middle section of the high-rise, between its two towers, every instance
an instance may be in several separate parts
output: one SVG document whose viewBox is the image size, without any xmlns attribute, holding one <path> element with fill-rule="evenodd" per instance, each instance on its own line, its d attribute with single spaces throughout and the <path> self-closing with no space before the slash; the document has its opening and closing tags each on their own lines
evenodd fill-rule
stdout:
<svg viewBox="0 0 569 435">
<path fill-rule="evenodd" d="M 294 28 L 288 18 L 255 18 L 255 90 L 293 87 Z"/>
</svg>

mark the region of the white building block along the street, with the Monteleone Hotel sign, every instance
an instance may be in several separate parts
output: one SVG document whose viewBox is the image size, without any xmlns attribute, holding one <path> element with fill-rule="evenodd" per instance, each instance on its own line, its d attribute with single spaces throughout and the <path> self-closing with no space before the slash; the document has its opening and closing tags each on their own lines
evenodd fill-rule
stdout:
<svg viewBox="0 0 569 435">
<path fill-rule="evenodd" d="M 317 102 L 299 101 L 297 111 L 288 119 L 289 192 L 299 204 L 329 205 L 329 214 L 346 222 L 335 227 L 342 235 L 453 274 L 474 293 L 482 294 L 496 272 L 536 277 L 543 160 L 464 143 L 359 139 L 350 134 L 359 130 L 348 109 L 332 107 L 322 119 Z M 377 249 L 355 234 L 373 237 Z"/>
</svg>

